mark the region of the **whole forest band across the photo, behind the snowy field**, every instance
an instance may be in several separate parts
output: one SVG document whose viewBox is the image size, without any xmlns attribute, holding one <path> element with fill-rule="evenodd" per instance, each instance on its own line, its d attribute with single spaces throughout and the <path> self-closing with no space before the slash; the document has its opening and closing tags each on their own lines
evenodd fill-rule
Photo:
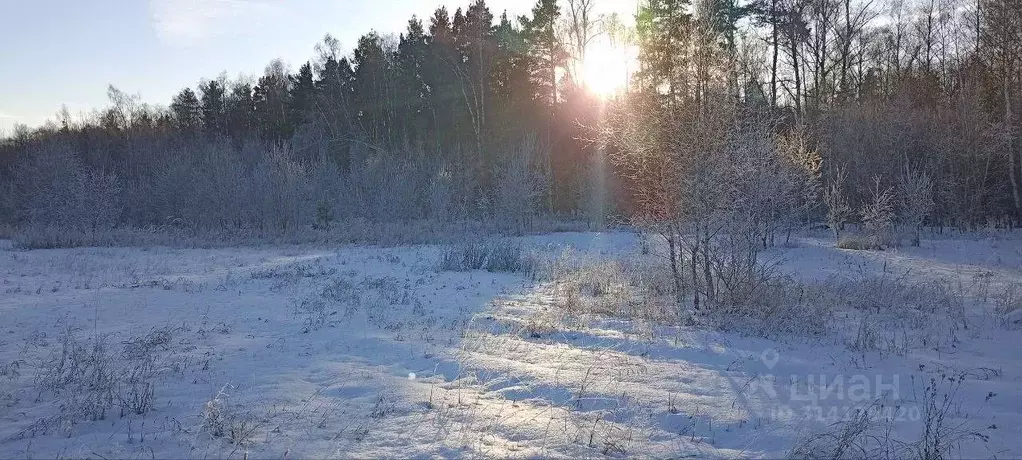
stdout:
<svg viewBox="0 0 1022 460">
<path fill-rule="evenodd" d="M 0 227 L 38 247 L 619 217 L 695 258 L 817 223 L 871 246 L 1022 223 L 1022 2 L 642 0 L 632 27 L 600 1 L 439 8 L 167 107 L 111 87 L 0 140 Z M 614 94 L 580 75 L 596 39 L 636 50 Z"/>
</svg>

